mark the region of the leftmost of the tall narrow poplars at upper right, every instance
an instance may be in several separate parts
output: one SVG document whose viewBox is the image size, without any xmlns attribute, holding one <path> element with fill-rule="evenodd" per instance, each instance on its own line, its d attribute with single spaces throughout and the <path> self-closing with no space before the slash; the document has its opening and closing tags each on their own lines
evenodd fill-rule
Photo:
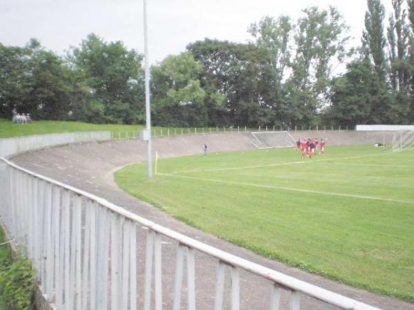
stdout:
<svg viewBox="0 0 414 310">
<path fill-rule="evenodd" d="M 365 13 L 365 30 L 362 34 L 362 48 L 367 59 L 372 59 L 378 76 L 385 81 L 386 40 L 384 37 L 385 8 L 381 0 L 367 0 Z"/>
</svg>

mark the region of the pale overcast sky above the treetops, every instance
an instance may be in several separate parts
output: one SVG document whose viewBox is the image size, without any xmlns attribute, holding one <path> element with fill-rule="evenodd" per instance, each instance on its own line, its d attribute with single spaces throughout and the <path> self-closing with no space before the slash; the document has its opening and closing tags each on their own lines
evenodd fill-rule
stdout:
<svg viewBox="0 0 414 310">
<path fill-rule="evenodd" d="M 391 12 L 391 0 L 383 0 Z M 144 52 L 143 0 L 0 0 L 0 42 L 23 45 L 31 37 L 63 54 L 90 32 L 106 41 L 123 41 Z M 303 8 L 336 6 L 351 27 L 358 45 L 364 28 L 366 0 L 148 0 L 150 62 L 184 51 L 206 37 L 246 42 L 247 28 L 263 16 L 288 14 L 296 19 Z"/>
</svg>

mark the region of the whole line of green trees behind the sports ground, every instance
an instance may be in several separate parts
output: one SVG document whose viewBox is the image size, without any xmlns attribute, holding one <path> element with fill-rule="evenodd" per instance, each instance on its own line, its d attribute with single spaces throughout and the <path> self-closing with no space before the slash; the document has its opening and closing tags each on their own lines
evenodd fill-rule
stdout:
<svg viewBox="0 0 414 310">
<path fill-rule="evenodd" d="M 381 0 L 367 0 L 357 47 L 334 7 L 263 17 L 248 43 L 188 44 L 152 65 L 155 125 L 414 123 L 414 0 L 390 1 L 386 17 Z M 121 41 L 89 34 L 64 56 L 36 39 L 0 43 L 0 64 L 0 117 L 144 123 L 143 55 Z"/>
</svg>

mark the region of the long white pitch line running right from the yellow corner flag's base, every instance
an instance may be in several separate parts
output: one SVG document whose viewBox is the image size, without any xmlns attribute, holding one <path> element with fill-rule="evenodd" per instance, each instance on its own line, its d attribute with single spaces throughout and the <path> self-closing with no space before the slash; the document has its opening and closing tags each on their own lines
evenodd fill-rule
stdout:
<svg viewBox="0 0 414 310">
<path fill-rule="evenodd" d="M 233 181 L 226 181 L 226 180 L 217 180 L 213 178 L 197 178 L 195 176 L 179 176 L 177 174 L 161 174 L 158 173 L 159 176 L 170 176 L 174 178 L 187 178 L 190 180 L 201 180 L 207 181 L 212 183 L 221 183 L 221 184 L 228 184 L 228 185 L 239 185 L 239 186 L 247 186 L 247 187 L 258 187 L 258 188 L 267 188 L 267 189 L 277 189 L 280 191 L 286 192 L 299 192 L 299 193 L 307 193 L 307 194 L 323 194 L 328 196 L 340 196 L 340 197 L 347 197 L 347 198 L 359 198 L 359 199 L 368 199 L 368 200 L 380 200 L 380 201 L 387 201 L 393 203 L 414 203 L 412 200 L 399 200 L 393 198 L 382 198 L 382 197 L 375 197 L 375 196 L 364 196 L 364 195 L 354 195 L 354 194 L 343 194 L 343 193 L 333 193 L 333 192 L 323 192 L 323 191 L 315 191 L 312 189 L 298 189 L 293 187 L 279 187 L 273 185 L 257 185 L 252 183 L 242 183 L 242 182 L 233 182 Z"/>
</svg>

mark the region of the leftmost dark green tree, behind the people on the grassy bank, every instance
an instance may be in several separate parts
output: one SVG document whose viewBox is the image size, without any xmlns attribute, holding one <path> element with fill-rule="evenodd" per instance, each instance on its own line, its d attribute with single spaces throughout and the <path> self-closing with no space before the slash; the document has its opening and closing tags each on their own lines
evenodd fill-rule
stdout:
<svg viewBox="0 0 414 310">
<path fill-rule="evenodd" d="M 0 114 L 30 113 L 33 118 L 66 119 L 70 112 L 69 68 L 32 39 L 24 48 L 0 44 Z"/>
</svg>

